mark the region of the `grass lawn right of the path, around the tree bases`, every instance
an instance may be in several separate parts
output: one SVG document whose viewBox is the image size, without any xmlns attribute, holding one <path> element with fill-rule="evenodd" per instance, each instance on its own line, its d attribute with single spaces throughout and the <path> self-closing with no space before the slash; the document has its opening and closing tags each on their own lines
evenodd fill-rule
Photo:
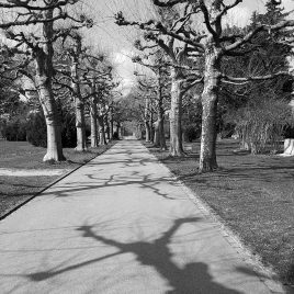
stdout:
<svg viewBox="0 0 294 294">
<path fill-rule="evenodd" d="M 217 145 L 219 170 L 199 174 L 199 142 L 183 159 L 147 147 L 272 265 L 282 282 L 294 284 L 294 157 L 238 155 L 238 143 L 225 139 Z M 185 147 L 191 149 L 191 144 Z"/>
</svg>

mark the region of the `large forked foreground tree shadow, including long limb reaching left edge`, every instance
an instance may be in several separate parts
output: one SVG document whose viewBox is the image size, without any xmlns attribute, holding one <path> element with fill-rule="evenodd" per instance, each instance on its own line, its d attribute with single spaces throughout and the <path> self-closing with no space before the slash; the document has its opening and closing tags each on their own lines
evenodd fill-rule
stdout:
<svg viewBox="0 0 294 294">
<path fill-rule="evenodd" d="M 133 253 L 142 265 L 154 268 L 160 276 L 168 282 L 171 290 L 166 292 L 167 294 L 242 294 L 242 292 L 230 290 L 225 285 L 215 282 L 213 276 L 210 274 L 208 265 L 204 262 L 191 262 L 181 268 L 172 261 L 173 255 L 169 248 L 172 236 L 184 224 L 200 222 L 201 219 L 202 218 L 200 217 L 179 218 L 173 222 L 173 225 L 165 231 L 161 237 L 151 241 L 138 240 L 131 242 L 122 242 L 100 236 L 95 233 L 95 226 L 83 225 L 76 228 L 82 233 L 82 237 L 91 238 L 103 245 L 116 248 L 117 251 L 67 267 L 66 263 L 68 263 L 68 261 L 64 261 L 61 264 L 57 264 L 55 268 L 47 271 L 39 271 L 30 274 L 4 275 L 22 276 L 31 280 L 32 282 L 42 282 L 56 275 L 74 270 L 80 270 L 83 267 L 114 258 L 118 255 Z M 247 268 L 238 267 L 235 270 L 236 272 L 241 272 L 249 276 L 257 276 L 256 272 Z"/>
</svg>

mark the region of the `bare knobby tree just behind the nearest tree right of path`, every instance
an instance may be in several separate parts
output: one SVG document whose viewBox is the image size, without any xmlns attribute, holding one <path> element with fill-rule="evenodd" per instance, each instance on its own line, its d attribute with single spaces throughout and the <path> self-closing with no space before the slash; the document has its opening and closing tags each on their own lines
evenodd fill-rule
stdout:
<svg viewBox="0 0 294 294">
<path fill-rule="evenodd" d="M 172 30 L 174 19 L 180 14 L 173 10 L 158 10 L 158 19 L 160 23 Z M 152 43 L 151 45 L 142 45 L 142 41 L 136 41 L 135 46 L 140 50 L 150 50 L 160 48 L 167 56 L 170 66 L 171 76 L 171 108 L 170 108 L 170 155 L 180 157 L 184 155 L 182 146 L 182 98 L 184 93 L 194 84 L 202 82 L 203 79 L 199 75 L 199 68 L 189 60 L 190 48 L 185 43 L 176 42 L 171 35 L 162 36 L 162 32 L 154 29 L 149 23 L 126 21 L 122 13 L 116 14 L 116 23 L 118 25 L 134 25 L 145 31 L 144 41 Z M 154 54 L 154 53 L 151 53 Z"/>
</svg>

